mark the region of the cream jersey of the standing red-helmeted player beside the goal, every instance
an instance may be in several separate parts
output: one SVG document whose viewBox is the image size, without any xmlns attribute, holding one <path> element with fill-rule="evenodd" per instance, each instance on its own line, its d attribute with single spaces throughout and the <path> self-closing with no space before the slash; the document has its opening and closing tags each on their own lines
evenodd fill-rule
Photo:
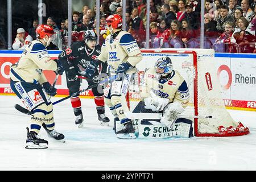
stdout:
<svg viewBox="0 0 256 182">
<path fill-rule="evenodd" d="M 129 32 L 120 31 L 114 39 L 112 37 L 106 37 L 98 60 L 108 61 L 111 72 L 115 72 L 118 65 L 125 61 L 135 67 L 142 60 L 142 53 L 133 36 Z"/>
</svg>

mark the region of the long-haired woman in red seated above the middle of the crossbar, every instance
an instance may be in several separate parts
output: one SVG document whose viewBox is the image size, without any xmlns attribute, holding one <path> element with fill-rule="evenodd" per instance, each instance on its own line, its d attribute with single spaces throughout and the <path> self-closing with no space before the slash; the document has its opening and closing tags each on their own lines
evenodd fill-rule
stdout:
<svg viewBox="0 0 256 182">
<path fill-rule="evenodd" d="M 183 43 L 180 40 L 180 22 L 178 20 L 172 20 L 170 28 L 169 45 L 171 48 L 183 48 Z"/>
</svg>

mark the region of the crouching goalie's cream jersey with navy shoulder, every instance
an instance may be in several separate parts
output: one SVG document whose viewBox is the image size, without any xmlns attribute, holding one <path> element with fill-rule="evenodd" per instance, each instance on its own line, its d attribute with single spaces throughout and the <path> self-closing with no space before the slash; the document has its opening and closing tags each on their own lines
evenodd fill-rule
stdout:
<svg viewBox="0 0 256 182">
<path fill-rule="evenodd" d="M 140 86 L 142 98 L 150 97 L 150 90 L 152 90 L 156 96 L 168 98 L 169 103 L 180 102 L 183 107 L 188 105 L 190 99 L 187 82 L 175 70 L 168 78 L 158 80 L 158 74 L 154 68 L 150 68 L 146 71 Z"/>
</svg>

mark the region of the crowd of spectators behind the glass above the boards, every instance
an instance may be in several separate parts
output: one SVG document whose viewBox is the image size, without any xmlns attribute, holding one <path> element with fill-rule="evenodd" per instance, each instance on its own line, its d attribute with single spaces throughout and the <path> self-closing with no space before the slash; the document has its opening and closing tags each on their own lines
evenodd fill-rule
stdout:
<svg viewBox="0 0 256 182">
<path fill-rule="evenodd" d="M 150 1 L 150 48 L 200 48 L 200 0 L 149 0 Z M 216 52 L 256 53 L 256 0 L 205 0 L 204 48 Z M 122 16 L 121 0 L 101 0 L 100 44 L 110 32 L 106 28 L 106 17 L 112 14 Z M 84 6 L 72 13 L 72 42 L 84 39 L 85 30 L 96 29 L 96 6 Z M 139 47 L 146 43 L 146 0 L 126 1 L 126 31 L 137 40 Z M 65 49 L 68 46 L 68 19 L 63 19 L 60 28 L 54 18 L 47 19 L 48 26 L 56 32 L 48 49 Z M 35 39 L 35 28 L 24 32 L 20 38 L 17 31 L 13 48 L 23 49 L 30 39 Z M 26 38 L 25 38 L 26 37 Z M 27 42 L 26 42 L 27 40 Z M 17 46 L 20 42 L 20 46 Z"/>
</svg>

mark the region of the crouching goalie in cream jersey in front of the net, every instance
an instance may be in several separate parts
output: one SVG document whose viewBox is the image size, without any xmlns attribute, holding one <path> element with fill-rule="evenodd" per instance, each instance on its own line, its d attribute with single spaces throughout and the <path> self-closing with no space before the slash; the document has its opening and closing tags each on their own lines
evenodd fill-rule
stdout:
<svg viewBox="0 0 256 182">
<path fill-rule="evenodd" d="M 188 130 L 185 133 L 187 137 L 193 136 L 192 121 L 179 118 L 190 98 L 187 82 L 173 69 L 170 57 L 158 59 L 154 68 L 145 73 L 140 86 L 143 102 L 134 109 L 135 112 L 163 113 L 160 123 L 169 129 L 174 123 L 187 123 L 190 127 L 186 127 Z M 142 125 L 145 121 L 148 123 L 145 118 Z"/>
</svg>

